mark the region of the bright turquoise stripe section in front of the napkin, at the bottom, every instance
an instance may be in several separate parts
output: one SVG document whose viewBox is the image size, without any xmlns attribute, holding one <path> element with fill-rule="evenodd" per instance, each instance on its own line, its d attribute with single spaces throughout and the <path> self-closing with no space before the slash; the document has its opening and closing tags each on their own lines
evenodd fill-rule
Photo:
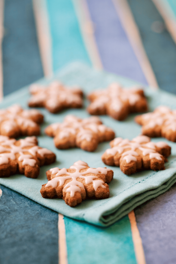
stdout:
<svg viewBox="0 0 176 264">
<path fill-rule="evenodd" d="M 103 229 L 64 217 L 69 264 L 136 264 L 128 216 Z"/>
</svg>

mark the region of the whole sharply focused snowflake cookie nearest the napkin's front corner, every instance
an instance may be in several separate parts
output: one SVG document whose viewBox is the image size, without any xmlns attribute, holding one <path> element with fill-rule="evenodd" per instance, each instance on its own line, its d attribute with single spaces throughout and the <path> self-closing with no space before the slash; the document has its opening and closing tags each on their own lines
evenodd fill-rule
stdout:
<svg viewBox="0 0 176 264">
<path fill-rule="evenodd" d="M 88 198 L 106 199 L 113 171 L 107 168 L 93 169 L 83 161 L 75 162 L 70 169 L 53 168 L 46 172 L 47 184 L 40 193 L 43 198 L 63 198 L 66 204 L 76 206 Z"/>
</svg>

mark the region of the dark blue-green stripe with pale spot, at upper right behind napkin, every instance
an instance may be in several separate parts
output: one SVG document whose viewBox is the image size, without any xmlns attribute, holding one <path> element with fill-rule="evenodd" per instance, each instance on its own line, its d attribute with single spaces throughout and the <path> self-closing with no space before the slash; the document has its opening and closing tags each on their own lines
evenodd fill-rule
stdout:
<svg viewBox="0 0 176 264">
<path fill-rule="evenodd" d="M 176 93 L 176 45 L 166 28 L 162 30 L 163 18 L 151 0 L 128 2 L 159 87 Z"/>
</svg>

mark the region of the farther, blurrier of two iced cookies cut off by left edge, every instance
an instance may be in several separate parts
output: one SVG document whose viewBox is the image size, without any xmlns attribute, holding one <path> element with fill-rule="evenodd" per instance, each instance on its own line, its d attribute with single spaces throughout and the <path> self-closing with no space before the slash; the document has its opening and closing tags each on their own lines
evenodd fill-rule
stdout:
<svg viewBox="0 0 176 264">
<path fill-rule="evenodd" d="M 40 135 L 40 126 L 43 115 L 35 110 L 23 110 L 15 104 L 7 109 L 0 110 L 0 135 L 8 137 Z"/>
</svg>

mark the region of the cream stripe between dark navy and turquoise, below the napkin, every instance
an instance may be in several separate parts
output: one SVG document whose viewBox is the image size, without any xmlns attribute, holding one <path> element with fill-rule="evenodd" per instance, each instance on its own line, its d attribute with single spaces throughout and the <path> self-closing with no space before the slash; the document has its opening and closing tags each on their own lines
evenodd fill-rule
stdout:
<svg viewBox="0 0 176 264">
<path fill-rule="evenodd" d="M 58 231 L 59 231 L 59 264 L 67 264 L 67 244 L 66 244 L 66 233 L 64 216 L 58 214 Z"/>
</svg>

